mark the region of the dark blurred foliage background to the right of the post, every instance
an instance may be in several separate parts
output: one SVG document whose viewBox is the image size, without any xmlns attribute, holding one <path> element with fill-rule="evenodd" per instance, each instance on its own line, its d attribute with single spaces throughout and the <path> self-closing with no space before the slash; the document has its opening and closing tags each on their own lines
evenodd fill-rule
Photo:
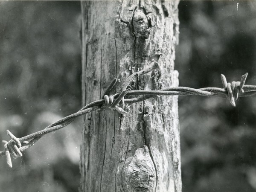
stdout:
<svg viewBox="0 0 256 192">
<path fill-rule="evenodd" d="M 220 74 L 256 84 L 256 2 L 181 1 L 180 86 L 221 87 Z M 256 190 L 255 97 L 180 96 L 184 192 Z"/>
</svg>

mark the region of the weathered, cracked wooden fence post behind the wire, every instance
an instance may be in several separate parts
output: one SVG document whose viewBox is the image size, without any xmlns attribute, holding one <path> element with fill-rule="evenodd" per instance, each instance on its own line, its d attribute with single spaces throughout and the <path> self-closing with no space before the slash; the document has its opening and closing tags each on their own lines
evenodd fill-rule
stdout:
<svg viewBox="0 0 256 192">
<path fill-rule="evenodd" d="M 101 99 L 132 73 L 134 89 L 178 86 L 174 71 L 178 1 L 82 1 L 83 105 Z M 128 105 L 127 115 L 93 111 L 84 117 L 81 192 L 181 192 L 177 96 Z"/>
</svg>

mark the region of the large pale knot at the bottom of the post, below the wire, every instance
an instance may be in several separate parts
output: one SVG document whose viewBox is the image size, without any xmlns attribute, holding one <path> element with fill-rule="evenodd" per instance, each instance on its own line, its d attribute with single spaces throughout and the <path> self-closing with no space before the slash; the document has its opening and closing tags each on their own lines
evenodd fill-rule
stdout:
<svg viewBox="0 0 256 192">
<path fill-rule="evenodd" d="M 135 151 L 131 162 L 122 171 L 122 187 L 126 192 L 153 191 L 156 185 L 154 163 L 147 146 Z"/>
</svg>

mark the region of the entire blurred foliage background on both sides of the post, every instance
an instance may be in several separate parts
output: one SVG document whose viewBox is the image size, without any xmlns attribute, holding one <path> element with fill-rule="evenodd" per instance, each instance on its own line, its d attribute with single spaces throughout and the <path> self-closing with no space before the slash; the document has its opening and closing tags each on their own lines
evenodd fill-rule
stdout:
<svg viewBox="0 0 256 192">
<path fill-rule="evenodd" d="M 239 3 L 239 4 L 237 4 Z M 0 1 L 0 139 L 41 130 L 81 107 L 79 1 Z M 180 1 L 180 86 L 256 84 L 256 2 Z M 180 96 L 183 192 L 256 191 L 256 102 Z M 79 120 L 13 161 L 0 191 L 78 191 Z"/>
</svg>

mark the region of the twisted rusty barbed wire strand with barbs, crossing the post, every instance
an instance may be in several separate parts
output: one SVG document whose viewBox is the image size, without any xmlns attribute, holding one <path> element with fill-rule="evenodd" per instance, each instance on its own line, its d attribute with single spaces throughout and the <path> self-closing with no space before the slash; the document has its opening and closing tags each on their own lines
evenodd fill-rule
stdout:
<svg viewBox="0 0 256 192">
<path fill-rule="evenodd" d="M 52 131 L 57 131 L 58 129 L 64 128 L 73 122 L 77 117 L 90 113 L 92 111 L 102 111 L 107 109 L 116 110 L 119 113 L 126 114 L 125 104 L 136 103 L 144 101 L 146 99 L 154 98 L 157 96 L 187 96 L 187 95 L 198 95 L 198 96 L 216 96 L 222 95 L 229 99 L 231 105 L 236 106 L 236 102 L 239 97 L 252 96 L 256 94 L 256 85 L 246 85 L 245 80 L 248 73 L 245 73 L 240 81 L 233 81 L 232 83 L 227 83 L 226 77 L 221 74 L 221 81 L 223 88 L 218 87 L 206 87 L 200 89 L 194 89 L 190 87 L 169 87 L 161 90 L 131 90 L 127 89 L 128 85 L 138 76 L 149 73 L 158 68 L 158 63 L 154 62 L 153 65 L 133 73 L 127 79 L 125 79 L 122 92 L 116 93 L 109 96 L 112 88 L 115 86 L 117 79 L 113 79 L 110 85 L 107 87 L 102 99 L 91 102 L 90 104 L 81 108 L 78 112 L 66 116 L 57 122 L 52 123 L 41 131 L 29 134 L 25 137 L 17 138 L 9 130 L 7 130 L 7 135 L 11 138 L 9 142 L 3 140 L 4 150 L 0 151 L 0 156 L 6 156 L 6 162 L 9 167 L 12 167 L 11 155 L 14 159 L 17 157 L 22 157 L 22 151 L 30 148 L 34 145 L 41 137 Z M 125 96 L 134 96 L 134 98 L 125 99 Z M 138 97 L 135 97 L 138 96 Z M 120 103 L 122 101 L 122 103 Z"/>
</svg>

